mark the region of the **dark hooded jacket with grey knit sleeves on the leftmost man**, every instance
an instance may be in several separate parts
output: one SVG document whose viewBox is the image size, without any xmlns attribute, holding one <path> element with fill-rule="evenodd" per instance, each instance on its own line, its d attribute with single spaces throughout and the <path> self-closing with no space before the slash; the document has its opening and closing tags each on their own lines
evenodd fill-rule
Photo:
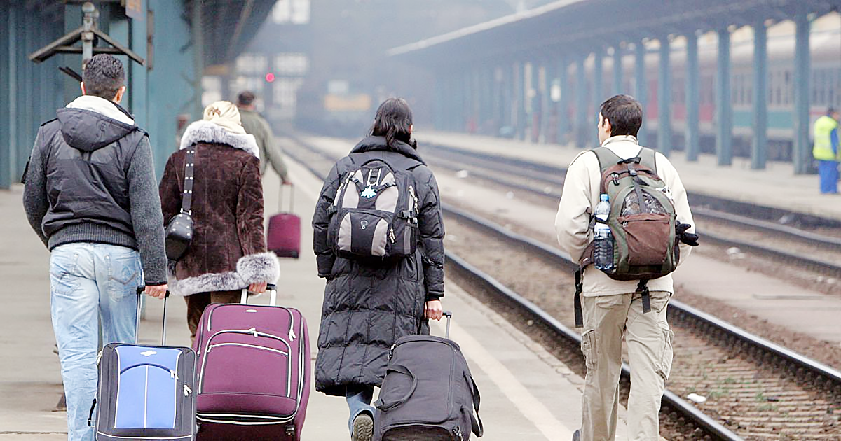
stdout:
<svg viewBox="0 0 841 441">
<path fill-rule="evenodd" d="M 74 242 L 139 249 L 145 282 L 166 283 L 163 216 L 148 136 L 92 110 L 61 108 L 56 114 L 41 125 L 24 176 L 32 228 L 50 250 Z"/>
</svg>

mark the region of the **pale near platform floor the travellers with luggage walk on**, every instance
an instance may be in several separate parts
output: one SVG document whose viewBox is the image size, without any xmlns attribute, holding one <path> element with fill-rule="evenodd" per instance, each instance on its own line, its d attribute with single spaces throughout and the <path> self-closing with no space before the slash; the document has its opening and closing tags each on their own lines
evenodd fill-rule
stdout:
<svg viewBox="0 0 841 441">
<path fill-rule="evenodd" d="M 294 211 L 302 218 L 302 255 L 299 260 L 281 260 L 278 303 L 304 313 L 315 359 L 324 281 L 316 276 L 309 223 L 321 181 L 293 161 L 288 164 L 296 184 Z M 278 177 L 267 174 L 267 213 L 278 211 L 279 187 Z M 6 228 L 0 245 L 14 250 L 0 258 L 0 283 L 8 286 L 2 294 L 6 313 L 0 334 L 0 441 L 66 439 L 66 413 L 54 411 L 61 375 L 52 351 L 50 255 L 26 222 L 21 194 L 20 186 L 0 192 L 0 219 Z M 482 392 L 481 439 L 570 439 L 580 423 L 583 380 L 452 281 L 447 281 L 446 293 L 444 307 L 454 317 L 451 337 L 461 345 Z M 267 296 L 256 302 L 267 303 Z M 167 344 L 188 345 L 184 302 L 171 298 L 167 309 Z M 162 302 L 147 298 L 141 343 L 160 342 L 161 312 Z M 444 323 L 433 323 L 432 332 L 443 335 Z M 625 438 L 624 410 L 620 418 L 619 437 Z M 346 422 L 343 399 L 313 391 L 303 439 L 348 439 Z"/>
</svg>

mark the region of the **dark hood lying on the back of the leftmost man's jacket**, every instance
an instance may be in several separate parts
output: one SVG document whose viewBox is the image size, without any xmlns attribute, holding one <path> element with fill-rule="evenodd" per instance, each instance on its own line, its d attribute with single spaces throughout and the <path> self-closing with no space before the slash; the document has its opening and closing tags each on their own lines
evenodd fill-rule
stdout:
<svg viewBox="0 0 841 441">
<path fill-rule="evenodd" d="M 86 108 L 60 108 L 56 114 L 66 143 L 82 151 L 102 149 L 138 129 L 134 124 Z"/>
</svg>

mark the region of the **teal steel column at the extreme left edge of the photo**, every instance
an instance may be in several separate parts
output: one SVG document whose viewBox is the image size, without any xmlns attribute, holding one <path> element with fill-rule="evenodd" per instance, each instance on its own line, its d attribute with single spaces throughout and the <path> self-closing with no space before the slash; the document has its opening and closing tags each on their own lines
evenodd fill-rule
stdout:
<svg viewBox="0 0 841 441">
<path fill-rule="evenodd" d="M 15 118 L 15 7 L 0 2 L 0 188 L 12 185 Z M 5 103 L 8 103 L 5 104 Z"/>
</svg>

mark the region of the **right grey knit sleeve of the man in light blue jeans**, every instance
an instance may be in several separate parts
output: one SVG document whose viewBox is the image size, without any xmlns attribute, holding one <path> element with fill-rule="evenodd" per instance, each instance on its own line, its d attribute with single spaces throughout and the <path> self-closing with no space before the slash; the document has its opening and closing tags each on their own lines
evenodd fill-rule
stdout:
<svg viewBox="0 0 841 441">
<path fill-rule="evenodd" d="M 129 164 L 131 223 L 140 248 L 146 285 L 167 283 L 167 255 L 164 249 L 163 214 L 158 194 L 149 138 L 143 136 Z"/>
</svg>

